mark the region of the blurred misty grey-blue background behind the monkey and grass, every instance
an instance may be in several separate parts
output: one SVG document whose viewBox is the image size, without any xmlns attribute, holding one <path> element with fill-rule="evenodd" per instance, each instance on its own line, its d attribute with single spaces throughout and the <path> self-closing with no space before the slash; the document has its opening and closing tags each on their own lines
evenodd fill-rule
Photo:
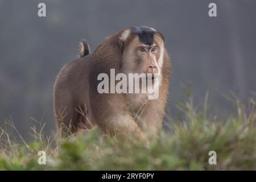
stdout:
<svg viewBox="0 0 256 182">
<path fill-rule="evenodd" d="M 38 17 L 38 3 L 46 17 Z M 208 5 L 217 4 L 217 17 Z M 101 40 L 127 26 L 160 31 L 172 58 L 167 114 L 186 100 L 189 85 L 195 105 L 209 91 L 209 113 L 225 119 L 234 110 L 223 97 L 233 91 L 242 101 L 256 91 L 256 1 L 4 1 L 0 0 L 0 126 L 13 119 L 29 138 L 32 118 L 55 133 L 53 83 L 61 67 L 78 55 L 86 39 L 94 51 Z"/>
</svg>

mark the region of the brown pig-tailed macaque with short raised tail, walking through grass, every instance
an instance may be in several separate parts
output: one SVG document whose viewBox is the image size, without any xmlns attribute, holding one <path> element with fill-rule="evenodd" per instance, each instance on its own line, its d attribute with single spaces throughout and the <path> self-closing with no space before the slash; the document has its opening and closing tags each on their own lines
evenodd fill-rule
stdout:
<svg viewBox="0 0 256 182">
<path fill-rule="evenodd" d="M 80 58 L 65 64 L 55 81 L 61 135 L 98 126 L 110 136 L 156 137 L 171 72 L 163 35 L 150 27 L 127 27 L 106 37 L 92 54 L 82 41 L 79 52 Z"/>
</svg>

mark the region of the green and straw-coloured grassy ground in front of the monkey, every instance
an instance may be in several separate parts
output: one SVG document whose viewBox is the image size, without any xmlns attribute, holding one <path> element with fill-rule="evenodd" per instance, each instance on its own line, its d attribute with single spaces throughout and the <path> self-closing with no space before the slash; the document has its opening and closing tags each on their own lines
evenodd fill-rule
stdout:
<svg viewBox="0 0 256 182">
<path fill-rule="evenodd" d="M 21 142 L 15 142 L 11 132 L 1 129 L 0 169 L 256 170 L 255 97 L 249 99 L 247 109 L 234 101 L 236 117 L 218 121 L 207 114 L 206 102 L 197 111 L 189 97 L 178 106 L 183 119 L 171 119 L 171 130 L 162 132 L 149 147 L 106 137 L 97 129 L 56 142 L 55 137 L 43 137 L 44 125 L 40 124 L 39 131 L 32 128 L 35 139 L 30 143 L 21 136 Z M 15 131 L 13 122 L 7 125 Z M 46 151 L 46 165 L 38 164 L 41 150 Z M 216 151 L 216 165 L 208 163 L 209 151 Z"/>
</svg>

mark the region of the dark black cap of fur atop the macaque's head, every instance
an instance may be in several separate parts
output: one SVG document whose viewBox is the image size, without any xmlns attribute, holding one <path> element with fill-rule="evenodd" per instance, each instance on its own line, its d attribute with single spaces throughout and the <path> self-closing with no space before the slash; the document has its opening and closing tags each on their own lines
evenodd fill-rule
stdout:
<svg viewBox="0 0 256 182">
<path fill-rule="evenodd" d="M 154 34 L 156 31 L 150 27 L 131 27 L 131 34 L 139 36 L 139 40 L 143 44 L 152 45 L 154 43 Z"/>
</svg>

